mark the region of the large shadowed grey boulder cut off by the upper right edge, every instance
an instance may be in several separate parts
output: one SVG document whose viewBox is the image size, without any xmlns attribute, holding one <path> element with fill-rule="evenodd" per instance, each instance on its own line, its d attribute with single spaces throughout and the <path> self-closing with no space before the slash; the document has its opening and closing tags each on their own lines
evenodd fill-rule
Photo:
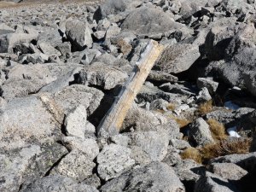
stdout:
<svg viewBox="0 0 256 192">
<path fill-rule="evenodd" d="M 256 30 L 247 24 L 230 42 L 226 49 L 225 62 L 218 66 L 217 71 L 225 83 L 248 90 L 253 96 L 255 92 L 255 58 L 254 38 Z"/>
</svg>

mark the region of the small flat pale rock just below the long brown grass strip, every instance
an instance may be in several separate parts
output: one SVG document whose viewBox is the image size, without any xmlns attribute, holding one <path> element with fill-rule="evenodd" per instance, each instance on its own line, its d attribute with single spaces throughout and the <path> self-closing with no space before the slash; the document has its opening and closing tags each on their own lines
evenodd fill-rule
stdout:
<svg viewBox="0 0 256 192">
<path fill-rule="evenodd" d="M 211 171 L 219 177 L 229 180 L 240 180 L 241 177 L 246 176 L 248 173 L 233 163 L 212 163 Z"/>
</svg>

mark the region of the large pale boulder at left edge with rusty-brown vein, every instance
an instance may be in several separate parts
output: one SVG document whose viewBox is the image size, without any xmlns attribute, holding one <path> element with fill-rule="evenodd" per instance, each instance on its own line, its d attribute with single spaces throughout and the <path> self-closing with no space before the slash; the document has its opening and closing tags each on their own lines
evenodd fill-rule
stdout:
<svg viewBox="0 0 256 192">
<path fill-rule="evenodd" d="M 52 141 L 61 135 L 63 119 L 61 108 L 47 95 L 12 100 L 0 115 L 0 148 Z"/>
</svg>

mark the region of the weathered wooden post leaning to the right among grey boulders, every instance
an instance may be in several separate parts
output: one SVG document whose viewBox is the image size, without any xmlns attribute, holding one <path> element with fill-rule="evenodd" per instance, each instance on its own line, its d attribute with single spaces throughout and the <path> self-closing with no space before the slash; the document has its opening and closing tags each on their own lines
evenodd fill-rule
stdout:
<svg viewBox="0 0 256 192">
<path fill-rule="evenodd" d="M 148 42 L 130 78 L 127 79 L 119 96 L 116 97 L 112 107 L 108 110 L 100 125 L 98 125 L 96 129 L 98 137 L 109 137 L 119 133 L 126 113 L 131 108 L 132 102 L 137 96 L 138 91 L 141 90 L 144 81 L 148 77 L 148 73 L 150 73 L 154 62 L 163 49 L 164 46 L 154 40 Z"/>
</svg>

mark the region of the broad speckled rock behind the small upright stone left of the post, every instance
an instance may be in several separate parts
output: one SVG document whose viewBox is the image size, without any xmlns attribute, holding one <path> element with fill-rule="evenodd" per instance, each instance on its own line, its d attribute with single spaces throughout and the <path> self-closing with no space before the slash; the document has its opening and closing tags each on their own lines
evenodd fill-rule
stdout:
<svg viewBox="0 0 256 192">
<path fill-rule="evenodd" d="M 92 114 L 100 106 L 104 94 L 101 90 L 83 84 L 73 84 L 54 95 L 55 102 L 64 108 L 64 113 L 71 112 L 79 105 L 87 108 L 87 115 Z"/>
</svg>

